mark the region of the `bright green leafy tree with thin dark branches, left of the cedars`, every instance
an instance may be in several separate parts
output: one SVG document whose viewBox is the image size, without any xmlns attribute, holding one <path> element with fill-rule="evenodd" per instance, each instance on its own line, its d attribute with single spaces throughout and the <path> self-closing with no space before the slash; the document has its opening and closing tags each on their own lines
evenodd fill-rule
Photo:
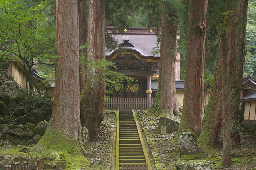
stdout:
<svg viewBox="0 0 256 170">
<path fill-rule="evenodd" d="M 0 62 L 18 61 L 32 83 L 32 67 L 40 64 L 53 65 L 41 61 L 53 58 L 54 25 L 49 25 L 44 13 L 46 2 L 34 7 L 24 7 L 17 0 L 0 0 Z"/>
</svg>

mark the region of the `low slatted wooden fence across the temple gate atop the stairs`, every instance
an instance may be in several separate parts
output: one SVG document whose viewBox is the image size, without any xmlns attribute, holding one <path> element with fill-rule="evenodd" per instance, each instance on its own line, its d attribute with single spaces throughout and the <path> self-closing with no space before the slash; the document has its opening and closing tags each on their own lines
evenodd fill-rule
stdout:
<svg viewBox="0 0 256 170">
<path fill-rule="evenodd" d="M 111 97 L 105 102 L 105 108 L 109 110 L 146 110 L 153 104 L 155 98 L 117 98 Z"/>
</svg>

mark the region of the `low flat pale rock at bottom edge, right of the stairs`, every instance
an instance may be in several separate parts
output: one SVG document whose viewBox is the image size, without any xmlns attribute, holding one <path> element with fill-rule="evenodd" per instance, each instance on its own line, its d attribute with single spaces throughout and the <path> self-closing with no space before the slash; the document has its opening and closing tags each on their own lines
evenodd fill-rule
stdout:
<svg viewBox="0 0 256 170">
<path fill-rule="evenodd" d="M 174 163 L 177 170 L 211 170 L 213 165 L 207 161 L 199 160 L 178 160 Z"/>
</svg>

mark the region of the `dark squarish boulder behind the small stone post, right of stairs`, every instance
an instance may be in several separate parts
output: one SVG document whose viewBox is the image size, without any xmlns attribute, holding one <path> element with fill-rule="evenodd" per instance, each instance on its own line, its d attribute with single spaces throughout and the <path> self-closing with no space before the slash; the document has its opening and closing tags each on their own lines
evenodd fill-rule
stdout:
<svg viewBox="0 0 256 170">
<path fill-rule="evenodd" d="M 164 116 L 159 118 L 156 133 L 161 134 L 161 127 L 166 126 L 166 133 L 172 134 L 177 132 L 179 128 L 181 118 L 177 116 Z"/>
</svg>

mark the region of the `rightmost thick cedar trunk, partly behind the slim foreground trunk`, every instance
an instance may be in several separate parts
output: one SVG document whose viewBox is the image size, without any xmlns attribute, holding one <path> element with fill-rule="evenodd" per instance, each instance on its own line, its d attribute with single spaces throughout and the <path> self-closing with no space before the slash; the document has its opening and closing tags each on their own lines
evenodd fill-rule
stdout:
<svg viewBox="0 0 256 170">
<path fill-rule="evenodd" d="M 230 54 L 229 64 L 229 102 L 230 102 L 230 129 L 231 129 L 231 147 L 240 148 L 239 135 L 239 103 L 241 97 L 244 60 L 246 54 L 246 18 L 248 0 L 233 1 L 235 5 L 233 13 L 234 27 L 230 30 Z"/>
</svg>

